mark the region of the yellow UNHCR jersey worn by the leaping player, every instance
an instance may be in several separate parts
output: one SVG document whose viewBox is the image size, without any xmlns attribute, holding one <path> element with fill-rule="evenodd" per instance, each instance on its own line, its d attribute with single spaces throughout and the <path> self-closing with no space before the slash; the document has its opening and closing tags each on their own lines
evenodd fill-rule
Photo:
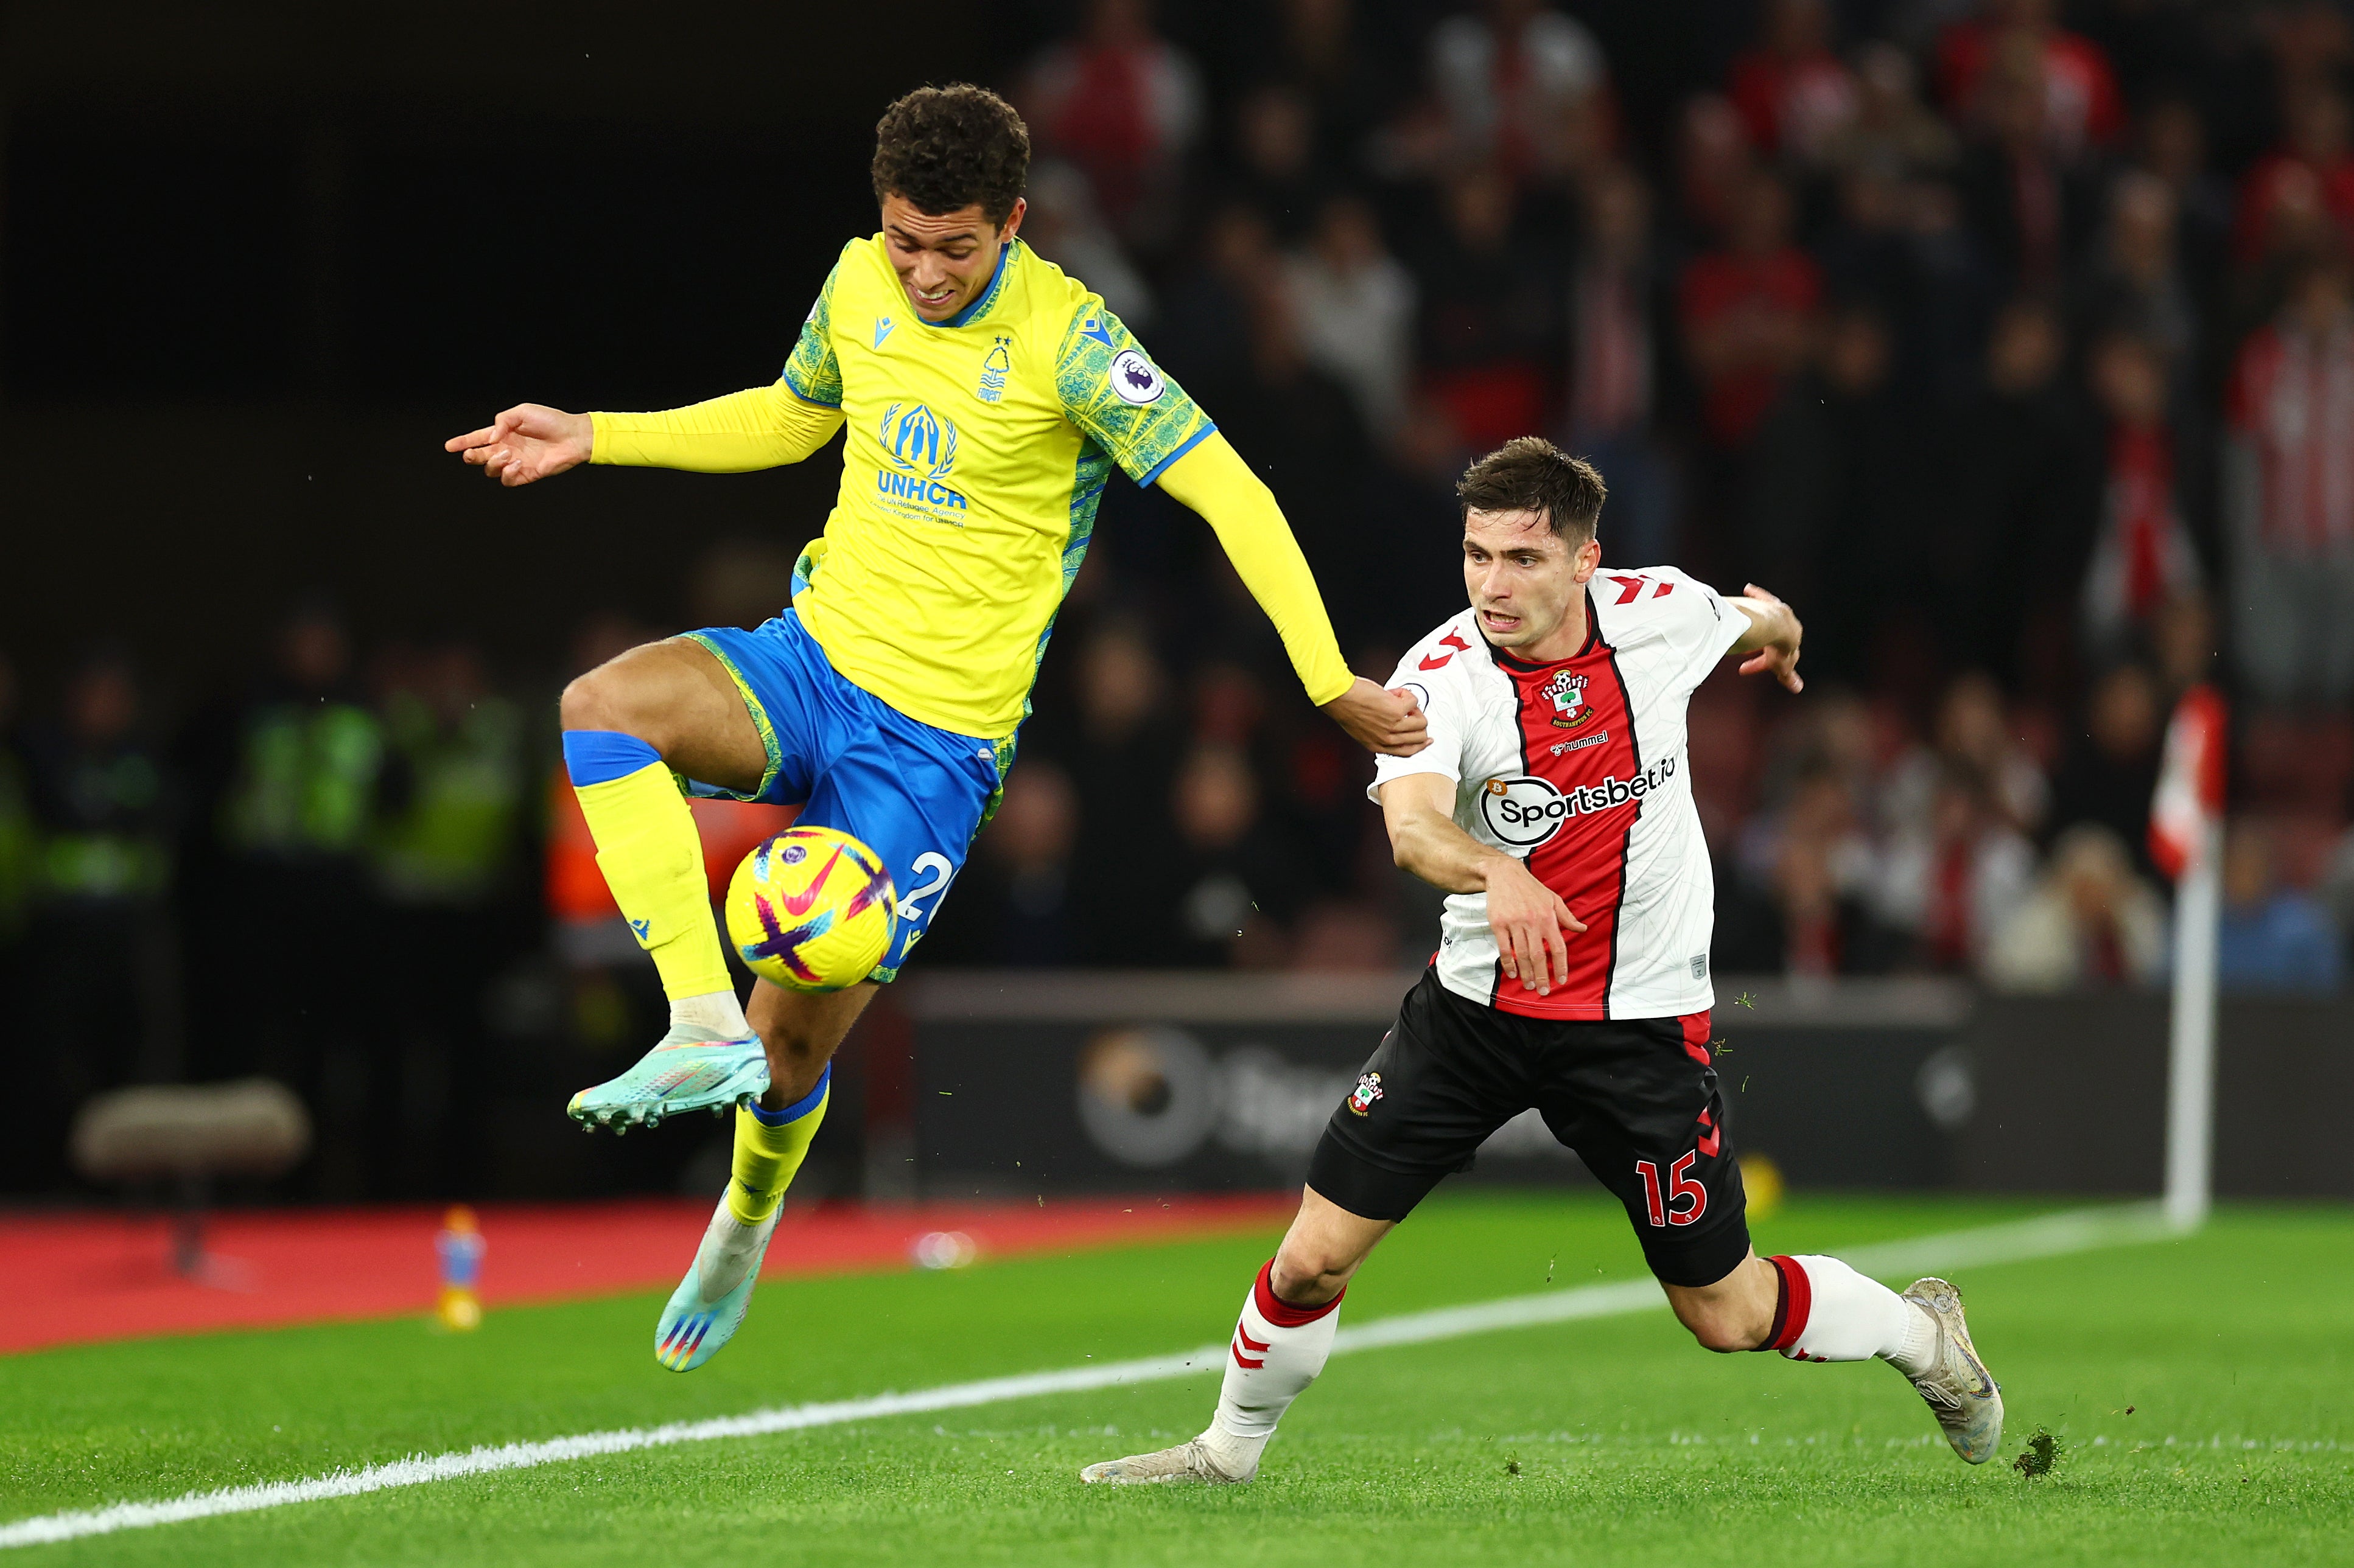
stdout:
<svg viewBox="0 0 2354 1568">
<path fill-rule="evenodd" d="M 1222 445 L 1102 297 L 1019 240 L 979 299 L 932 325 L 873 235 L 843 247 L 777 386 L 669 414 L 596 414 L 596 461 L 765 469 L 843 426 L 840 492 L 796 572 L 793 610 L 847 680 L 982 737 L 1022 723 L 1111 466 L 1151 485 L 1196 445 Z M 1297 565 L 1288 532 L 1281 549 Z M 1290 619 L 1316 643 L 1309 695 L 1328 702 L 1346 690 L 1346 666 L 1304 565 L 1295 574 L 1304 591 L 1285 584 L 1283 598 L 1304 593 L 1314 610 Z"/>
</svg>

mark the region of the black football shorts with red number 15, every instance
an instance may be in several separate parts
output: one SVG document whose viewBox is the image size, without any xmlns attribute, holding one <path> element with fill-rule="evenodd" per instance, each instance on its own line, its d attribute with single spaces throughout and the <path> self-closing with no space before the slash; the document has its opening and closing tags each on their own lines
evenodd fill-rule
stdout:
<svg viewBox="0 0 2354 1568">
<path fill-rule="evenodd" d="M 1405 1220 L 1530 1107 L 1627 1205 L 1664 1283 L 1714 1285 L 1749 1255 L 1707 1012 L 1521 1017 L 1455 996 L 1438 970 L 1405 994 L 1396 1026 L 1332 1111 L 1309 1187 L 1351 1215 Z"/>
</svg>

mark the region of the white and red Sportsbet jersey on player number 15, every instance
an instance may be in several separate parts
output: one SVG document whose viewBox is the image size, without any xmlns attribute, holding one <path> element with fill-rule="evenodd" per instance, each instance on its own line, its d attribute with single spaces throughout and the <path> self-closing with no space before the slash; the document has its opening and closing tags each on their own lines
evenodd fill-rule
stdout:
<svg viewBox="0 0 2354 1568">
<path fill-rule="evenodd" d="M 1556 664 L 1490 647 L 1467 607 L 1398 664 L 1431 744 L 1375 758 L 1389 779 L 1455 779 L 1455 822 L 1528 862 L 1584 932 L 1565 930 L 1570 982 L 1540 996 L 1504 979 L 1488 895 L 1455 892 L 1438 979 L 1530 1017 L 1681 1017 L 1716 1005 L 1716 885 L 1685 768 L 1685 702 L 1749 617 L 1676 567 L 1603 567 L 1587 586 L 1587 645 Z"/>
</svg>

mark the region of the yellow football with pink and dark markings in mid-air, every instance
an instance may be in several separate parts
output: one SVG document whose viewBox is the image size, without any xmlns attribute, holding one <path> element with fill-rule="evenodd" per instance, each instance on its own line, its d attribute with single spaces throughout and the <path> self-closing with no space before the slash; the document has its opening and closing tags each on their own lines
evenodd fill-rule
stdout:
<svg viewBox="0 0 2354 1568">
<path fill-rule="evenodd" d="M 760 979 L 840 991 L 883 963 L 897 904 L 883 857 L 850 833 L 796 826 L 746 855 L 727 881 L 727 939 Z"/>
</svg>

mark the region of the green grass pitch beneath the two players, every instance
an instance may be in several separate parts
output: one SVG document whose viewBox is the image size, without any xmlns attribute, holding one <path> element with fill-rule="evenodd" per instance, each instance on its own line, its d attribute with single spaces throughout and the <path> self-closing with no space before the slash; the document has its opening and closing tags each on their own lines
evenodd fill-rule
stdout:
<svg viewBox="0 0 2354 1568">
<path fill-rule="evenodd" d="M 1761 1250 L 2029 1203 L 1798 1198 Z M 657 1295 L 0 1361 L 0 1519 L 473 1443 L 923 1389 L 1222 1337 L 1274 1236 L 774 1283 L 709 1368 Z M 1615 1205 L 1467 1191 L 1398 1229 L 1344 1321 L 1641 1271 Z M 1968 1469 L 1883 1366 L 1711 1356 L 1667 1311 L 1335 1358 L 1257 1486 L 1080 1488 L 1193 1434 L 1196 1377 L 692 1443 L 174 1523 L 33 1563 L 2349 1563 L 2354 1215 L 2225 1208 L 2194 1238 L 1959 1269 L 2003 1380 Z M 2128 1410 L 2130 1408 L 2130 1410 Z M 2048 1479 L 2008 1464 L 2036 1427 Z"/>
</svg>

